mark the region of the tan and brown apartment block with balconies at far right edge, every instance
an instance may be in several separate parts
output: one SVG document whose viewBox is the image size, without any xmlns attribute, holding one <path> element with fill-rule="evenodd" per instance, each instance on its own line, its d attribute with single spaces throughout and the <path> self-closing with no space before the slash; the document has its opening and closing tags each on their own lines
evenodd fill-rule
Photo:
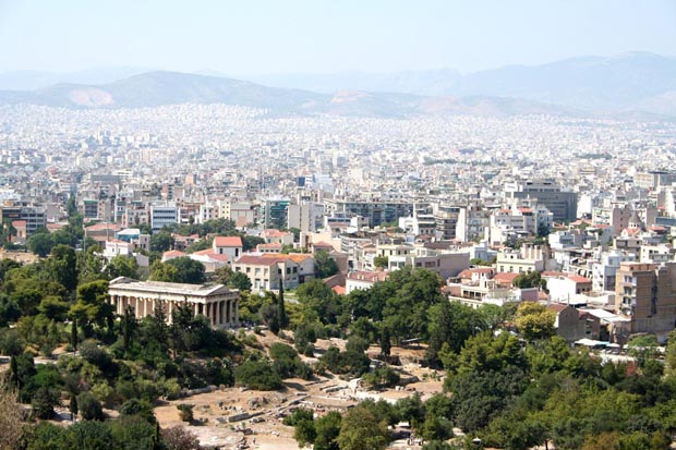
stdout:
<svg viewBox="0 0 676 450">
<path fill-rule="evenodd" d="M 631 332 L 668 332 L 676 327 L 676 263 L 620 263 L 615 307 L 631 318 Z"/>
</svg>

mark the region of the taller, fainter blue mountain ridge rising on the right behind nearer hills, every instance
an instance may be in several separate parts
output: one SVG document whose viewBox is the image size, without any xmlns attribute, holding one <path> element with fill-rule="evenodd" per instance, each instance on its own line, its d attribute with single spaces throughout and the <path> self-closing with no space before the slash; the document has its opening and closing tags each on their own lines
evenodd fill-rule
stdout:
<svg viewBox="0 0 676 450">
<path fill-rule="evenodd" d="M 452 70 L 389 74 L 339 73 L 255 77 L 270 86 L 330 93 L 386 90 L 434 97 L 510 97 L 596 114 L 676 117 L 676 58 L 648 52 L 581 57 L 540 65 L 508 65 L 459 74 Z"/>
</svg>

